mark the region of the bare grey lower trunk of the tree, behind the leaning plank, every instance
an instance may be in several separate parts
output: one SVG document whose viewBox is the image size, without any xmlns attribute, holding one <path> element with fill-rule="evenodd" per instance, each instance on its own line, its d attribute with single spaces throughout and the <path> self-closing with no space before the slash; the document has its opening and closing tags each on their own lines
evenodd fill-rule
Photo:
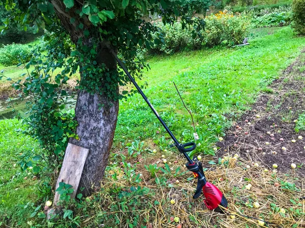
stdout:
<svg viewBox="0 0 305 228">
<path fill-rule="evenodd" d="M 104 106 L 100 109 L 101 104 Z M 85 195 L 90 194 L 95 186 L 100 186 L 113 142 L 117 114 L 118 101 L 109 105 L 107 97 L 90 95 L 85 91 L 78 93 L 75 118 L 80 139 L 71 139 L 70 142 L 89 149 L 78 188 L 84 187 Z"/>
</svg>

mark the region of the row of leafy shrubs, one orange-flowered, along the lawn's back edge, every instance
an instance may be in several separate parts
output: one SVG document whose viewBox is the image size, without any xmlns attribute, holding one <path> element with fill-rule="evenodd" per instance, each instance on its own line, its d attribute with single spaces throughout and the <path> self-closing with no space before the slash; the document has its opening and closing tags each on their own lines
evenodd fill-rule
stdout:
<svg viewBox="0 0 305 228">
<path fill-rule="evenodd" d="M 158 23 L 160 31 L 153 36 L 156 39 L 162 35 L 163 43 L 155 45 L 150 53 L 172 54 L 183 50 L 200 49 L 202 45 L 213 47 L 225 43 L 230 47 L 240 44 L 248 33 L 249 21 L 247 16 L 240 14 L 233 16 L 232 12 L 224 10 L 224 12 L 206 17 L 202 36 L 195 38 L 192 36 L 192 27 L 182 29 L 179 22 L 173 25 Z"/>
</svg>

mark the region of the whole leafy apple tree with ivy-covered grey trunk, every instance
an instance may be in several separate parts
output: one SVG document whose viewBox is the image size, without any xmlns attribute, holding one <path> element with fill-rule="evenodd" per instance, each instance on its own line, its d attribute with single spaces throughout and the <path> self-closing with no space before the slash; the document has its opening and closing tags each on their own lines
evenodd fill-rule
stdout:
<svg viewBox="0 0 305 228">
<path fill-rule="evenodd" d="M 22 63 L 27 69 L 25 80 L 13 85 L 35 98 L 29 132 L 49 151 L 49 162 L 55 164 L 63 158 L 68 141 L 89 149 L 79 185 L 86 195 L 104 175 L 118 100 L 128 94 L 119 92 L 119 87 L 129 81 L 106 44 L 124 60 L 134 77 L 141 78 L 141 70 L 147 65 L 137 57 L 139 50 L 150 49 L 163 39 L 162 32 L 159 39 L 152 39 L 152 33 L 159 29 L 143 18 L 150 13 L 160 15 L 163 23 L 180 20 L 182 27 L 192 26 L 197 36 L 204 21 L 191 18 L 189 12 L 199 6 L 206 9 L 208 4 L 206 0 L 0 0 L 9 11 L 0 30 L 15 25 L 45 29 L 47 55 L 42 57 L 39 48 L 33 48 L 32 60 Z M 76 72 L 80 80 L 73 116 L 64 111 L 62 101 L 67 94 L 65 84 Z"/>
</svg>

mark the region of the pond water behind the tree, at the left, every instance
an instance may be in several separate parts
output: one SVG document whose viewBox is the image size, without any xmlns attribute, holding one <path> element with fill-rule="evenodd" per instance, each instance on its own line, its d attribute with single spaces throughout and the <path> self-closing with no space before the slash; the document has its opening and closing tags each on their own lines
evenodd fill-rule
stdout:
<svg viewBox="0 0 305 228">
<path fill-rule="evenodd" d="M 26 116 L 28 111 L 26 102 L 33 99 L 33 96 L 27 96 L 24 98 L 14 98 L 10 100 L 0 100 L 0 120 L 12 119 L 17 115 L 21 117 Z M 66 108 L 74 108 L 76 104 L 77 95 L 72 94 L 65 98 L 63 103 L 66 104 Z"/>
</svg>

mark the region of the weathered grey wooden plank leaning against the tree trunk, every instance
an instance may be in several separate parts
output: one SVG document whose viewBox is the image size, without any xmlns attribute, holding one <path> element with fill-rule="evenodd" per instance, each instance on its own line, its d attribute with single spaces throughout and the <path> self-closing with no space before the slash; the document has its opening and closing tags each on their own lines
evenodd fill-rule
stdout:
<svg viewBox="0 0 305 228">
<path fill-rule="evenodd" d="M 89 150 L 86 148 L 68 143 L 63 166 L 60 170 L 55 189 L 59 186 L 59 182 L 71 184 L 74 189 L 71 198 L 75 197 L 88 152 Z M 59 194 L 55 193 L 54 205 L 56 205 L 58 200 Z"/>
</svg>

